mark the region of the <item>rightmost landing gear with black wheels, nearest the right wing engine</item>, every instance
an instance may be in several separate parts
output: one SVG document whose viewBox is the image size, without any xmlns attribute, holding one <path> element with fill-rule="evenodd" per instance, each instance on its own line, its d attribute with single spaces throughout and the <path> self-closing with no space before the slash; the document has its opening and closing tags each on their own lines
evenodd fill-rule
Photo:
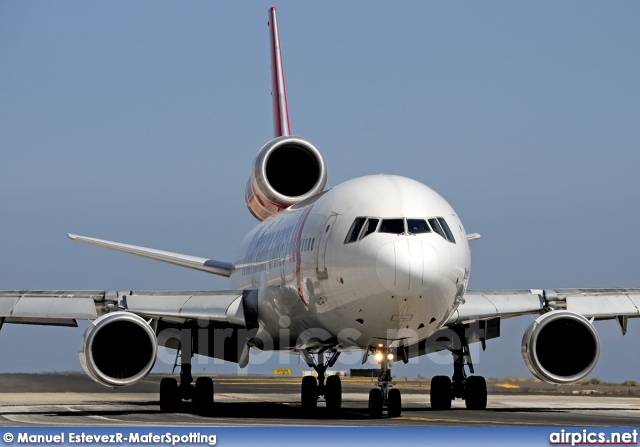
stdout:
<svg viewBox="0 0 640 447">
<path fill-rule="evenodd" d="M 464 371 L 465 363 L 469 372 L 474 373 L 469 345 L 462 349 L 451 350 L 453 355 L 453 377 L 435 376 L 431 379 L 431 408 L 433 410 L 451 409 L 453 399 L 464 399 L 469 410 L 487 408 L 487 382 L 482 376 L 468 376 Z"/>
</svg>

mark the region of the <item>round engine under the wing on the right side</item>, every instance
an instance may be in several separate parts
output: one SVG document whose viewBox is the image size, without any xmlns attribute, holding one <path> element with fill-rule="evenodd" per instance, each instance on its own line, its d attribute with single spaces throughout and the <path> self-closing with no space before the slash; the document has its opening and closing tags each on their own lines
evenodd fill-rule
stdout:
<svg viewBox="0 0 640 447">
<path fill-rule="evenodd" d="M 600 357 L 600 339 L 582 315 L 555 310 L 538 317 L 522 337 L 522 358 L 529 371 L 554 385 L 588 376 Z"/>
</svg>

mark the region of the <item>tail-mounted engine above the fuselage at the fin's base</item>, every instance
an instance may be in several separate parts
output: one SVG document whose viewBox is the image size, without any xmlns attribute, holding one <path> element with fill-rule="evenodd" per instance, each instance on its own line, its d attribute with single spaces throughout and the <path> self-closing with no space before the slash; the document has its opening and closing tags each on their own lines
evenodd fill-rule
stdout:
<svg viewBox="0 0 640 447">
<path fill-rule="evenodd" d="M 327 184 L 322 152 L 310 141 L 285 136 L 269 141 L 258 153 L 245 198 L 253 216 L 269 216 L 312 197 Z"/>
</svg>

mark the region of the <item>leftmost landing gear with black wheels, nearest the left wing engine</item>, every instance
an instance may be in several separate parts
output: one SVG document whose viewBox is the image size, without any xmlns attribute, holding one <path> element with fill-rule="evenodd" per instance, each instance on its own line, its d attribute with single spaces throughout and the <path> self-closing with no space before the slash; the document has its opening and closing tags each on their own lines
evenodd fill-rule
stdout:
<svg viewBox="0 0 640 447">
<path fill-rule="evenodd" d="M 181 346 L 191 346 L 181 340 Z M 213 412 L 213 380 L 211 377 L 198 377 L 193 384 L 191 375 L 191 350 L 180 349 L 180 384 L 173 377 L 165 377 L 160 381 L 160 411 L 163 413 L 175 413 L 179 410 L 183 400 L 190 400 L 201 414 Z M 177 361 L 177 356 L 176 356 Z"/>
</svg>

